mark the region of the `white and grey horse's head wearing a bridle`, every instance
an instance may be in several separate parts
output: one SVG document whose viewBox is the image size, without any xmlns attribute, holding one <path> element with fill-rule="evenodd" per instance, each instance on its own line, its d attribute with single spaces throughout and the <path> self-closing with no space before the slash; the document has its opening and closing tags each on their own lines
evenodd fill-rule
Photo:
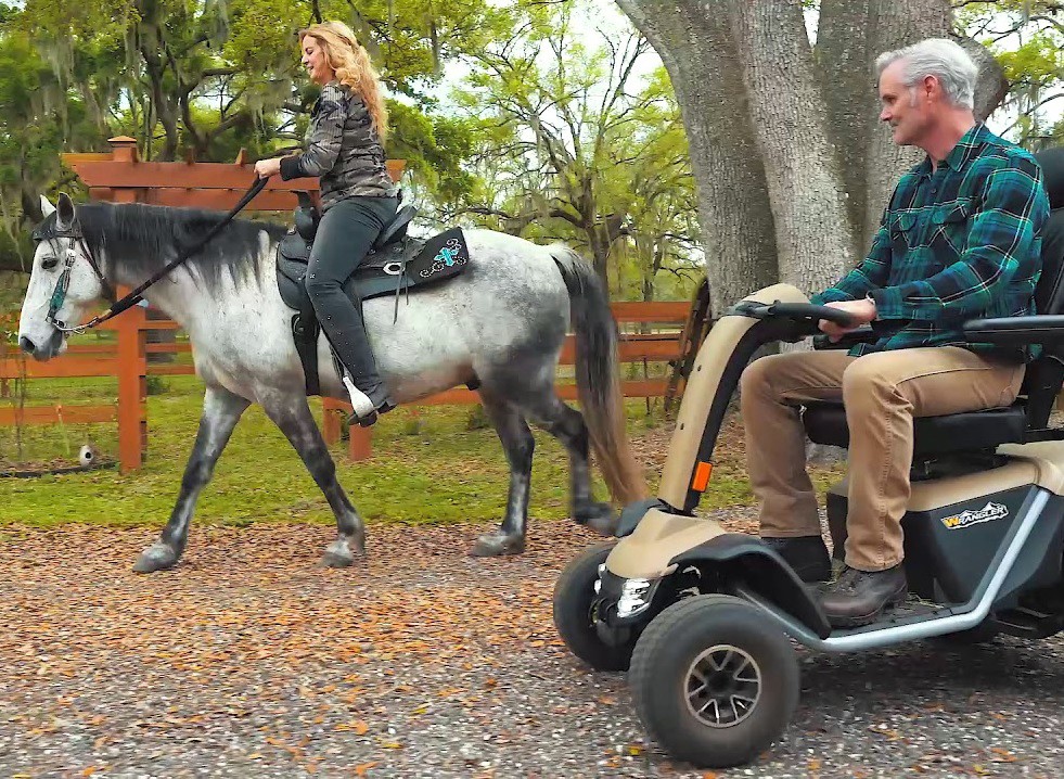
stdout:
<svg viewBox="0 0 1064 779">
<path fill-rule="evenodd" d="M 18 320 L 18 346 L 38 360 L 48 360 L 66 348 L 64 334 L 107 294 L 107 284 L 66 193 L 60 195 L 57 206 L 41 195 L 41 209 L 44 220 L 34 230 L 36 251 Z"/>
</svg>

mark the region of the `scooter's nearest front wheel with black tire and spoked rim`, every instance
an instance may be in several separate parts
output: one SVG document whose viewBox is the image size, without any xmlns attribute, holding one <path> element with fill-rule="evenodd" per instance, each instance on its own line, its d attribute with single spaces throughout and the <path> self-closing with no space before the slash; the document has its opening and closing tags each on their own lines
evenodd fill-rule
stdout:
<svg viewBox="0 0 1064 779">
<path fill-rule="evenodd" d="M 689 705 L 689 679 L 701 655 L 729 647 L 738 651 L 718 649 L 708 657 L 734 657 L 728 661 L 734 663 L 728 673 L 757 676 L 758 693 L 746 708 L 733 707 L 734 724 L 725 717 L 723 725 L 718 719 L 714 727 Z M 748 671 L 735 671 L 746 663 L 743 654 L 753 663 L 742 666 Z M 701 768 L 727 768 L 757 757 L 786 729 L 800 692 L 797 656 L 783 630 L 757 606 L 718 595 L 684 599 L 651 622 L 636 644 L 628 684 L 650 737 L 674 757 Z M 712 716 L 707 710 L 705 717 Z"/>
</svg>

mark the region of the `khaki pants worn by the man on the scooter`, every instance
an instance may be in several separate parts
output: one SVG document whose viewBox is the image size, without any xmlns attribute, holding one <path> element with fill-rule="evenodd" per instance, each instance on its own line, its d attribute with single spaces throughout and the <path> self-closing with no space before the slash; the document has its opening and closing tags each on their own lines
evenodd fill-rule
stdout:
<svg viewBox="0 0 1064 779">
<path fill-rule="evenodd" d="M 1023 365 L 958 346 L 863 357 L 842 349 L 798 352 L 755 360 L 743 373 L 742 411 L 761 535 L 820 535 L 798 409 L 808 400 L 843 400 L 850 435 L 846 564 L 860 571 L 898 564 L 913 417 L 1008 406 L 1023 375 Z"/>
</svg>

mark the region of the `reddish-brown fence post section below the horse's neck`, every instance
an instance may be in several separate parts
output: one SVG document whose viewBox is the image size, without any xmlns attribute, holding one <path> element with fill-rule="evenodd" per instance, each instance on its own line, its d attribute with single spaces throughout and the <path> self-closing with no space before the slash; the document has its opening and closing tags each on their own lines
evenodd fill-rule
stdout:
<svg viewBox="0 0 1064 779">
<path fill-rule="evenodd" d="M 140 468 L 148 449 L 148 360 L 144 309 L 116 317 L 118 331 L 118 463 L 123 473 Z"/>
</svg>

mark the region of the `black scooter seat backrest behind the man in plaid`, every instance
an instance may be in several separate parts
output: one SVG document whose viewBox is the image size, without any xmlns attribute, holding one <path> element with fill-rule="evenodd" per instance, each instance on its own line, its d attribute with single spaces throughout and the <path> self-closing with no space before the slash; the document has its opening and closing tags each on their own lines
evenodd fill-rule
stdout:
<svg viewBox="0 0 1064 779">
<path fill-rule="evenodd" d="M 1064 148 L 1035 155 L 1049 194 L 1049 219 L 1042 228 L 1042 273 L 1035 288 L 1038 314 L 1064 314 Z M 1044 427 L 1064 383 L 1064 349 L 1047 347 L 1027 366 L 1021 394 L 1027 396 L 1027 426 Z"/>
</svg>

